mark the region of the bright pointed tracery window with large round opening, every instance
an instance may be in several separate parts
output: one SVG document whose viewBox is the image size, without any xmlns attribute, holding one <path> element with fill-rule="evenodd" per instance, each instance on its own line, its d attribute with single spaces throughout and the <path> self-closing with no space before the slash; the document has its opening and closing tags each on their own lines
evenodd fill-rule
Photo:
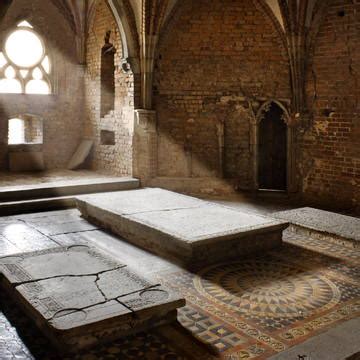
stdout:
<svg viewBox="0 0 360 360">
<path fill-rule="evenodd" d="M 51 64 L 41 37 L 22 21 L 0 51 L 0 93 L 50 94 Z"/>
</svg>

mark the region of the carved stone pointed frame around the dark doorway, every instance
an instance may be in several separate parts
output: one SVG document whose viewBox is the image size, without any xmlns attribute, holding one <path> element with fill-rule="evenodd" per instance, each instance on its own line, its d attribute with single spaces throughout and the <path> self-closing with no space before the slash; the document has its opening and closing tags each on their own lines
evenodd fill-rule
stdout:
<svg viewBox="0 0 360 360">
<path fill-rule="evenodd" d="M 259 125 L 264 118 L 264 114 L 270 109 L 271 104 L 274 103 L 278 105 L 283 110 L 282 120 L 287 126 L 287 186 L 285 193 L 294 193 L 297 191 L 296 186 L 296 132 L 293 122 L 291 121 L 290 113 L 284 105 L 279 100 L 270 99 L 263 102 L 259 109 L 254 112 L 250 123 L 250 147 L 251 147 L 251 161 L 253 164 L 252 169 L 252 189 L 254 191 L 259 191 Z"/>
</svg>

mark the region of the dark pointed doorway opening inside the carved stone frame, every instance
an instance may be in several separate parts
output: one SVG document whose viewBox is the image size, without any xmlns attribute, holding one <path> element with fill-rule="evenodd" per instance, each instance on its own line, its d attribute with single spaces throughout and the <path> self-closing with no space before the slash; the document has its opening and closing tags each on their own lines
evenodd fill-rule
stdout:
<svg viewBox="0 0 360 360">
<path fill-rule="evenodd" d="M 275 102 L 263 110 L 258 124 L 258 188 L 286 191 L 288 127 L 284 110 Z"/>
</svg>

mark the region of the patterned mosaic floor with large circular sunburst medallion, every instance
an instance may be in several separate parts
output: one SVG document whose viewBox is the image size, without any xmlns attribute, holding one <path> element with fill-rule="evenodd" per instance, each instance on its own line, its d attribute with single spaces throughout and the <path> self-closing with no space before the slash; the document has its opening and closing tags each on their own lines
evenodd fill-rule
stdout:
<svg viewBox="0 0 360 360">
<path fill-rule="evenodd" d="M 223 358 L 267 359 L 359 316 L 359 251 L 291 233 L 286 241 L 263 256 L 165 276 L 187 299 L 181 324 Z"/>
</svg>

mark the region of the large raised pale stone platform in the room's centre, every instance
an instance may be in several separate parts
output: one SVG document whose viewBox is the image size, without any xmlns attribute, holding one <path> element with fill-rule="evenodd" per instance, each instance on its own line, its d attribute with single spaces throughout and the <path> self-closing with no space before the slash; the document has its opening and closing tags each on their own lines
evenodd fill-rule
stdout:
<svg viewBox="0 0 360 360">
<path fill-rule="evenodd" d="M 163 189 L 77 198 L 82 215 L 180 263 L 211 263 L 279 246 L 288 223 Z"/>
</svg>

